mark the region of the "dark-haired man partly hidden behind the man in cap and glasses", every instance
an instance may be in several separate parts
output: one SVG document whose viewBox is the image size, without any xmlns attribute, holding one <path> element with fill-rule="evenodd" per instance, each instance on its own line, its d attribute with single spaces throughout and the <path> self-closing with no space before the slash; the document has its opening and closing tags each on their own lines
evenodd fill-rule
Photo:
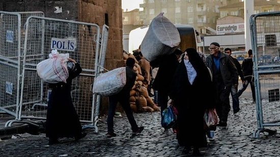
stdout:
<svg viewBox="0 0 280 157">
<path fill-rule="evenodd" d="M 225 48 L 224 51 L 225 51 L 225 53 L 227 53 L 228 55 L 231 56 L 232 50 L 230 48 Z M 241 65 L 240 65 L 239 61 L 234 57 L 232 57 L 232 59 L 233 59 L 234 65 L 237 69 L 238 75 L 240 76 L 240 79 L 242 80 L 242 83 L 245 83 L 245 78 L 244 78 L 244 75 L 243 75 L 243 72 L 242 72 Z M 234 114 L 237 113 L 238 111 L 240 111 L 239 98 L 238 98 L 238 95 L 237 95 L 237 90 L 238 90 L 237 88 L 232 86 L 231 95 L 232 95 L 232 109 L 233 109 Z"/>
</svg>

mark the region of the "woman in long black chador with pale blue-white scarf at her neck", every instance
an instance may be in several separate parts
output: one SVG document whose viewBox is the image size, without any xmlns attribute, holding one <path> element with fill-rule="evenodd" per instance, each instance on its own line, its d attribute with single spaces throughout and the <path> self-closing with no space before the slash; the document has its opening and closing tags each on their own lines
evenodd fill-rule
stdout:
<svg viewBox="0 0 280 157">
<path fill-rule="evenodd" d="M 198 155 L 199 148 L 207 146 L 204 113 L 214 108 L 214 91 L 211 75 L 198 52 L 188 48 L 184 53 L 174 74 L 170 102 L 178 110 L 179 144 L 187 152 L 193 147 L 193 155 Z"/>
</svg>

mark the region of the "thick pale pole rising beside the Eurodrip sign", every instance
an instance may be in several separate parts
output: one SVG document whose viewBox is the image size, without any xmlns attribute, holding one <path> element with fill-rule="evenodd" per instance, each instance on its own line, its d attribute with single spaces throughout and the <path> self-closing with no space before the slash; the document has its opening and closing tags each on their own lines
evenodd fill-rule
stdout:
<svg viewBox="0 0 280 157">
<path fill-rule="evenodd" d="M 244 0 L 245 51 L 252 49 L 250 36 L 250 16 L 254 14 L 254 0 Z"/>
</svg>

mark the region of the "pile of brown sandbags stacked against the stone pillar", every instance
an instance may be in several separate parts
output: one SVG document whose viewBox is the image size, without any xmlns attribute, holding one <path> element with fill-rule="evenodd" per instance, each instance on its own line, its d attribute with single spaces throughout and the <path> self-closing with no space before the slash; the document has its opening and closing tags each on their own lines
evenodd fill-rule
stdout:
<svg viewBox="0 0 280 157">
<path fill-rule="evenodd" d="M 155 105 L 153 99 L 149 96 L 147 87 L 142 82 L 144 77 L 142 76 L 141 68 L 132 54 L 123 52 L 124 66 L 126 59 L 129 57 L 135 60 L 133 71 L 137 74 L 135 84 L 130 90 L 129 101 L 132 111 L 135 113 L 159 111 L 158 106 Z"/>
</svg>

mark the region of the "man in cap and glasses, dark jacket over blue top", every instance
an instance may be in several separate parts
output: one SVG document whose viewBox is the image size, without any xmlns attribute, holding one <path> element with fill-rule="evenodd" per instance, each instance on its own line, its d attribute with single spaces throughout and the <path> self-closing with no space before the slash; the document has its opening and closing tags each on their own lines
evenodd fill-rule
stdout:
<svg viewBox="0 0 280 157">
<path fill-rule="evenodd" d="M 232 57 L 220 51 L 216 42 L 210 44 L 210 54 L 206 58 L 206 65 L 211 70 L 216 90 L 216 111 L 219 116 L 217 127 L 227 127 L 228 115 L 231 110 L 230 92 L 234 85 L 238 87 L 238 73 Z"/>
</svg>

